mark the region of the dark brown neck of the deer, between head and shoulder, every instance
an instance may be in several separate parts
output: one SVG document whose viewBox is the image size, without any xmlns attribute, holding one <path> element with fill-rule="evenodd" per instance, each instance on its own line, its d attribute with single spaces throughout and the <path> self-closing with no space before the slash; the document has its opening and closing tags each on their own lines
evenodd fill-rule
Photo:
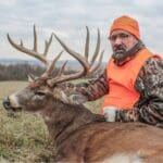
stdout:
<svg viewBox="0 0 163 163">
<path fill-rule="evenodd" d="M 82 104 L 64 104 L 61 101 L 55 101 L 42 115 L 55 145 L 60 145 L 70 134 L 84 125 L 104 121 L 103 116 L 91 113 Z"/>
</svg>

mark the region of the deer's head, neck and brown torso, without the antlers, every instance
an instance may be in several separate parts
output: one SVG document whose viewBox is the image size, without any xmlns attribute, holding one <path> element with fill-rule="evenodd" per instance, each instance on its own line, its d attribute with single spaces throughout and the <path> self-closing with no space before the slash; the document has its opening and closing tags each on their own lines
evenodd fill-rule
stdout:
<svg viewBox="0 0 163 163">
<path fill-rule="evenodd" d="M 65 104 L 54 98 L 50 88 L 34 87 L 34 83 L 9 99 L 13 110 L 42 115 L 55 143 L 55 162 L 109 162 L 110 158 L 124 154 L 145 163 L 163 161 L 161 128 L 141 123 L 104 122 L 102 115 L 91 113 L 84 105 Z"/>
</svg>

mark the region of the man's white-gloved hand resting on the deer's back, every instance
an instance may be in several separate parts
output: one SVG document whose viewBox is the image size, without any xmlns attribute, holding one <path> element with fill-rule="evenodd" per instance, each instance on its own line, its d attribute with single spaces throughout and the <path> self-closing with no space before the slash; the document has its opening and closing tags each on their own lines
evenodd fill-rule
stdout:
<svg viewBox="0 0 163 163">
<path fill-rule="evenodd" d="M 115 122 L 116 106 L 105 106 L 103 108 L 103 115 L 106 122 Z"/>
</svg>

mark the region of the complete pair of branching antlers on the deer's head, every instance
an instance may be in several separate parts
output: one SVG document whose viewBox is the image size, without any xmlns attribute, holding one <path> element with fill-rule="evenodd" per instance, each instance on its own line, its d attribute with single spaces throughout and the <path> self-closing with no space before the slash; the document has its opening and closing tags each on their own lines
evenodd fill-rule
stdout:
<svg viewBox="0 0 163 163">
<path fill-rule="evenodd" d="M 87 36 L 86 36 L 86 45 L 85 45 L 85 57 L 83 57 L 82 54 L 71 50 L 55 34 L 51 34 L 49 40 L 45 42 L 45 51 L 43 53 L 39 53 L 37 50 L 37 33 L 36 33 L 36 28 L 34 25 L 34 48 L 33 49 L 28 49 L 26 47 L 23 46 L 23 41 L 21 41 L 21 45 L 15 43 L 10 35 L 8 34 L 8 40 L 9 42 L 18 51 L 22 51 L 26 54 L 29 54 L 36 59 L 38 59 L 39 61 L 41 61 L 45 65 L 46 65 L 46 72 L 41 75 L 41 77 L 46 77 L 46 78 L 50 78 L 50 75 L 52 74 L 52 71 L 55 66 L 57 61 L 59 60 L 59 58 L 61 57 L 62 52 L 61 51 L 55 58 L 54 60 L 50 63 L 47 60 L 47 53 L 49 51 L 49 47 L 52 42 L 52 36 L 54 35 L 54 37 L 57 38 L 57 40 L 61 43 L 61 46 L 71 54 L 73 55 L 83 66 L 83 70 L 75 73 L 75 74 L 71 74 L 71 75 L 64 75 L 64 68 L 65 68 L 65 64 L 63 64 L 63 66 L 60 68 L 58 75 L 53 78 L 48 79 L 48 84 L 53 86 L 54 84 L 58 83 L 63 83 L 66 80 L 72 80 L 72 79 L 77 79 L 80 77 L 84 77 L 88 74 L 92 74 L 93 72 L 96 72 L 101 64 L 102 61 L 102 55 L 103 55 L 103 51 L 100 54 L 99 61 L 98 63 L 95 65 L 95 62 L 97 60 L 97 57 L 99 54 L 99 50 L 100 50 L 100 32 L 98 29 L 98 40 L 97 40 L 97 46 L 96 46 L 96 50 L 95 53 L 91 58 L 90 63 L 88 62 L 88 57 L 89 57 L 89 29 L 88 27 L 86 27 L 87 29 Z"/>
</svg>

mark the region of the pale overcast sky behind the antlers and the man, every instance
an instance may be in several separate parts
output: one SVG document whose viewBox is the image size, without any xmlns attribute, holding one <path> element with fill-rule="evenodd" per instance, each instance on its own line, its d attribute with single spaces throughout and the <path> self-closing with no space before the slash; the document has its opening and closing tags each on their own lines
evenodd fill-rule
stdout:
<svg viewBox="0 0 163 163">
<path fill-rule="evenodd" d="M 101 50 L 104 61 L 112 54 L 106 39 L 115 17 L 129 15 L 138 20 L 140 35 L 153 52 L 163 54 L 163 1 L 162 0 L 0 0 L 0 58 L 32 59 L 13 49 L 7 34 L 33 47 L 33 25 L 38 33 L 38 49 L 52 32 L 72 49 L 84 52 L 86 27 L 90 29 L 90 53 L 95 50 L 97 28 L 101 32 Z M 53 40 L 49 59 L 62 50 Z M 61 59 L 68 59 L 64 53 Z"/>
</svg>

